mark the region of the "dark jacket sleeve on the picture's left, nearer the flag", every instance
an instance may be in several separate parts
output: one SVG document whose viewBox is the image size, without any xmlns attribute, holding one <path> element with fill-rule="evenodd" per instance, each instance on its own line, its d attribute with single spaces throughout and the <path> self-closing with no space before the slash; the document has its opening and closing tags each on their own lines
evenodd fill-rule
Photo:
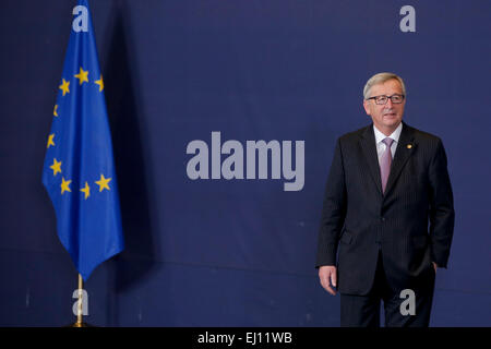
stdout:
<svg viewBox="0 0 491 349">
<path fill-rule="evenodd" d="M 337 244 L 346 216 L 346 196 L 343 153 L 337 140 L 325 186 L 315 267 L 336 265 Z"/>
</svg>

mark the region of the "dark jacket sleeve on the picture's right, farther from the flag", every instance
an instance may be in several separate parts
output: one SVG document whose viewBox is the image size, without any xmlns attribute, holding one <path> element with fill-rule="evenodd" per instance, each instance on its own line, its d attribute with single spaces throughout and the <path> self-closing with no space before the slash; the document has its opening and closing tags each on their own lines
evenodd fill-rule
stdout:
<svg viewBox="0 0 491 349">
<path fill-rule="evenodd" d="M 445 149 L 439 140 L 430 163 L 430 240 L 431 256 L 440 267 L 446 268 L 454 231 L 454 202 L 447 171 Z"/>
</svg>

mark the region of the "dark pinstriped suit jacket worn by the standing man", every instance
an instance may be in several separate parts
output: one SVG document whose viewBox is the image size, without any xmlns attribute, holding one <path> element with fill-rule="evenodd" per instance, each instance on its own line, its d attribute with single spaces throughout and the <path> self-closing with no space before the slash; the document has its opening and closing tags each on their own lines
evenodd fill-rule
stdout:
<svg viewBox="0 0 491 349">
<path fill-rule="evenodd" d="M 340 136 L 325 189 L 316 267 L 336 265 L 342 293 L 367 294 L 379 250 L 394 290 L 446 267 L 454 229 L 442 141 L 403 122 L 385 194 L 373 124 Z"/>
</svg>

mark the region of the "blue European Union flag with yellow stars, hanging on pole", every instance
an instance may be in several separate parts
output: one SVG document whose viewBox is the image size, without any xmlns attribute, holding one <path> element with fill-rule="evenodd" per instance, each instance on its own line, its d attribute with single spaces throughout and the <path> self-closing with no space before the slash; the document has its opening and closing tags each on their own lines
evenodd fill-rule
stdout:
<svg viewBox="0 0 491 349">
<path fill-rule="evenodd" d="M 56 210 L 58 236 L 86 280 L 98 264 L 123 250 L 104 81 L 86 0 L 73 8 L 46 147 L 43 183 Z"/>
</svg>

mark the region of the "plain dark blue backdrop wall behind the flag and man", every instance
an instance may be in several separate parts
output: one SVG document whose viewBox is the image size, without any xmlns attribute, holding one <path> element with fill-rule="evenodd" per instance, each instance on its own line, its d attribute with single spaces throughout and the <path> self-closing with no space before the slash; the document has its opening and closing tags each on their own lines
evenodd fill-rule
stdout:
<svg viewBox="0 0 491 349">
<path fill-rule="evenodd" d="M 407 4 L 416 32 L 400 28 Z M 74 321 L 76 270 L 40 181 L 74 5 L 0 5 L 2 326 Z M 371 121 L 366 81 L 391 71 L 408 89 L 404 120 L 443 140 L 454 189 L 431 325 L 491 325 L 490 1 L 93 0 L 91 9 L 125 251 L 85 284 L 88 322 L 338 326 L 339 297 L 314 269 L 324 183 L 336 137 Z M 289 180 L 271 169 L 267 179 L 190 179 L 195 140 L 209 148 L 212 174 L 212 132 L 240 143 L 244 161 L 248 141 L 304 141 L 303 188 L 285 191 Z"/>
</svg>

